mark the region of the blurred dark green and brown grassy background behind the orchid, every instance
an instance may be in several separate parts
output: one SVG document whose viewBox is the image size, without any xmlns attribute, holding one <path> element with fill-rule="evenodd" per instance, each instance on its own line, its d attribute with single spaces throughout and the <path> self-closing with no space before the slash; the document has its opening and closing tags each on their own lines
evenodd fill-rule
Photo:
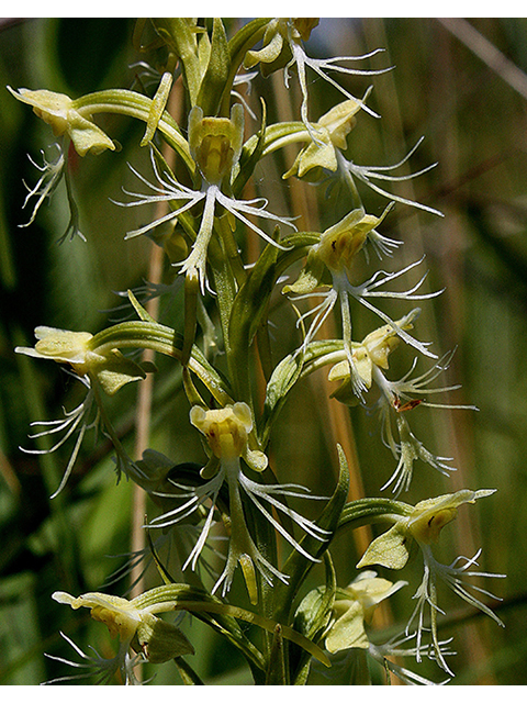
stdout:
<svg viewBox="0 0 527 703">
<path fill-rule="evenodd" d="M 13 88 L 47 88 L 78 97 L 111 87 L 132 87 L 141 60 L 132 48 L 134 23 L 122 19 L 3 20 L 0 31 L 0 83 Z M 475 30 L 475 33 L 473 32 Z M 462 509 L 445 531 L 438 556 L 450 562 L 457 554 L 472 556 L 483 547 L 481 570 L 502 572 L 506 580 L 482 583 L 503 598 L 497 605 L 506 628 L 474 615 L 453 594 L 441 591 L 448 613 L 441 635 L 456 633 L 458 656 L 449 661 L 457 684 L 524 684 L 527 682 L 527 21 L 481 19 L 445 24 L 434 19 L 323 20 L 307 44 L 311 55 L 359 55 L 385 47 L 371 59 L 374 67 L 394 66 L 373 78 L 343 78 L 354 94 L 372 83 L 369 104 L 381 115 L 359 115 L 348 138 L 348 158 L 361 165 L 399 161 L 424 135 L 412 157 L 416 171 L 438 166 L 415 181 L 393 186 L 394 192 L 437 208 L 444 219 L 397 205 L 382 233 L 404 241 L 397 266 L 426 254 L 430 290 L 445 293 L 425 310 L 416 328 L 421 339 L 433 339 L 439 354 L 458 347 L 448 383 L 462 383 L 451 403 L 480 410 L 421 409 L 412 427 L 424 444 L 451 456 L 458 471 L 450 479 L 416 467 L 407 500 L 451 492 L 460 488 L 496 488 L 497 493 Z M 313 76 L 311 76 L 313 79 Z M 272 119 L 288 116 L 281 76 L 255 79 L 251 96 L 265 94 Z M 273 94 L 271 94 L 273 93 Z M 311 118 L 317 119 L 339 93 L 317 79 L 310 83 Z M 281 102 L 283 101 L 283 102 Z M 68 447 L 53 455 L 27 455 L 32 446 L 29 424 L 60 416 L 81 397 L 78 383 L 55 365 L 13 354 L 16 345 L 32 345 L 38 324 L 97 332 L 117 305 L 114 291 L 136 287 L 147 276 L 149 243 L 125 243 L 131 217 L 109 198 L 122 198 L 131 183 L 126 161 L 141 170 L 145 155 L 137 144 L 143 126 L 121 118 L 98 119 L 120 142 L 119 154 L 105 153 L 75 163 L 74 182 L 87 242 L 57 245 L 68 222 L 64 185 L 35 222 L 22 211 L 26 190 L 37 178 L 27 154 L 42 163 L 40 149 L 53 143 L 49 127 L 32 111 L 0 91 L 0 683 L 36 684 L 65 673 L 44 652 L 75 658 L 60 639 L 61 629 L 86 650 L 91 644 L 112 656 L 112 643 L 88 613 L 72 613 L 52 601 L 57 589 L 71 593 L 101 590 L 105 579 L 124 562 L 108 555 L 131 549 L 132 487 L 115 486 L 110 447 L 103 436 L 86 442 L 67 489 L 49 501 L 68 459 Z M 256 130 L 256 125 L 251 125 Z M 294 152 L 292 153 L 294 157 Z M 281 182 L 287 159 L 269 165 L 262 189 Z M 289 164 L 291 161 L 289 160 Z M 283 168 L 282 168 L 283 166 Z M 395 174 L 404 172 L 404 167 Z M 134 183 L 136 187 L 137 183 Z M 390 190 L 390 187 L 388 188 Z M 323 190 L 323 189 L 322 189 Z M 325 227 L 343 216 L 346 203 L 318 198 L 313 189 L 290 183 L 285 200 L 304 216 L 304 228 Z M 367 210 L 382 211 L 384 201 L 360 188 Z M 272 197 L 270 198 L 272 200 Z M 344 208 L 339 212 L 339 207 Z M 349 207 L 348 207 L 349 209 Z M 273 208 L 270 208 L 271 211 Z M 305 222 L 307 220 L 307 222 Z M 319 225 L 317 224 L 319 220 Z M 136 222 L 134 220 L 134 222 Z M 172 270 L 173 272 L 173 270 Z M 166 276 L 170 270 L 166 270 Z M 168 281 L 168 279 L 167 279 Z M 405 308 L 386 306 L 401 315 Z M 162 322 L 180 325 L 177 304 L 161 308 Z M 274 322 L 277 360 L 294 346 L 290 325 L 294 317 L 277 300 Z M 283 313 L 283 314 L 282 314 Z M 354 319 L 355 320 L 355 319 Z M 372 320 L 359 317 L 357 338 L 371 330 Z M 374 322 L 373 322 L 374 324 Z M 401 355 L 408 368 L 411 352 Z M 397 361 L 394 360 L 395 369 Z M 154 391 L 152 446 L 175 460 L 202 459 L 199 438 L 188 429 L 188 404 L 178 373 L 159 361 Z M 419 369 L 425 370 L 426 365 Z M 168 376 L 164 377 L 166 369 Z M 332 490 L 335 481 L 335 442 L 357 447 L 360 477 L 355 495 L 379 494 L 394 469 L 393 458 L 379 440 L 374 416 L 348 412 L 328 401 L 318 386 L 305 383 L 292 394 L 283 422 L 271 444 L 278 473 L 302 481 L 314 491 Z M 317 382 L 318 382 L 317 381 Z M 326 389 L 327 390 L 327 389 Z M 125 388 L 110 403 L 128 449 L 134 446 L 133 405 L 137 389 Z M 336 406 L 338 405 L 338 409 Z M 180 429 L 183 427 L 183 429 Z M 345 442 L 343 432 L 352 427 Z M 34 445 L 33 445 L 34 446 Z M 403 500 L 406 496 L 402 496 Z M 448 534 L 447 534 L 448 533 Z M 365 533 L 366 534 L 366 533 Z M 365 537 L 366 538 L 366 537 Z M 360 535 L 338 539 L 335 553 L 339 584 L 354 578 L 360 556 Z M 412 610 L 410 595 L 419 582 L 422 566 L 402 574 L 410 591 L 396 594 L 384 622 L 404 624 Z M 156 576 L 150 577 L 157 584 Z M 316 569 L 314 570 L 316 583 Z M 126 584 L 112 587 L 123 593 Z M 407 591 L 407 592 L 406 592 Z M 404 593 L 404 596 L 403 596 Z M 494 602 L 495 603 L 495 602 Z M 463 625 L 459 625 L 462 622 Z M 208 682 L 248 682 L 239 657 L 223 647 L 199 623 L 189 627 L 198 654 L 192 666 Z M 431 671 L 431 670 L 430 670 Z M 153 672 L 153 671 L 152 671 Z M 158 683 L 178 682 L 170 665 L 156 670 Z M 431 673 L 430 673 L 431 676 Z M 440 677 L 439 677 L 440 678 Z"/>
</svg>

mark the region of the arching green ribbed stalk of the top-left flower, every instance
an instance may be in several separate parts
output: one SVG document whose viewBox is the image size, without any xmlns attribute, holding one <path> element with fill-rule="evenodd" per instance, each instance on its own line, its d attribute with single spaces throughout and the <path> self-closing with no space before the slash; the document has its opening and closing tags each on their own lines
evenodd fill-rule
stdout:
<svg viewBox="0 0 527 703">
<path fill-rule="evenodd" d="M 148 123 L 153 101 L 133 90 L 112 89 L 88 93 L 74 100 L 72 107 L 85 118 L 97 113 L 123 114 Z M 159 119 L 157 129 L 165 136 L 167 143 L 181 156 L 187 168 L 193 175 L 195 163 L 190 155 L 189 144 L 182 136 L 178 123 L 168 113 L 164 112 Z"/>
</svg>

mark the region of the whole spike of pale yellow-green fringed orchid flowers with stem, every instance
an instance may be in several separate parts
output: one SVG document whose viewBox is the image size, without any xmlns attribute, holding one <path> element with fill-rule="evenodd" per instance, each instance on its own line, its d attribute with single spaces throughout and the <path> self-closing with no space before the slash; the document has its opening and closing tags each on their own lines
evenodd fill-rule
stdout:
<svg viewBox="0 0 527 703">
<path fill-rule="evenodd" d="M 150 237 L 164 248 L 169 270 L 181 281 L 180 287 L 158 284 L 150 293 L 176 295 L 176 304 L 184 310 L 182 328 L 175 330 L 153 319 L 139 294 L 128 291 L 133 320 L 111 324 L 97 334 L 40 326 L 33 347 L 16 348 L 19 354 L 65 365 L 86 388 L 83 401 L 65 410 L 63 419 L 35 423 L 32 437 L 49 435 L 54 439 L 49 451 L 72 443 L 56 493 L 65 490 L 75 472 L 87 433 L 99 428 L 113 445 L 117 478 L 124 475 L 134 481 L 148 494 L 150 510 L 157 510 L 145 525 L 148 547 L 131 560 L 149 557 L 157 567 L 159 585 L 132 600 L 103 592 L 53 593 L 56 601 L 75 610 L 90 609 L 91 617 L 119 637 L 115 657 L 106 659 L 94 649 L 91 655 L 85 652 L 64 635 L 76 660 L 51 655 L 74 668 L 74 673 L 65 671 L 56 682 L 110 682 L 117 676 L 123 683 L 136 684 L 144 662 L 169 661 L 184 683 L 201 682 L 188 660 L 199 647 L 189 640 L 192 631 L 183 634 L 179 621 L 162 620 L 160 613 L 184 611 L 212 627 L 239 649 L 257 684 L 310 683 L 317 669 L 332 681 L 343 668 L 358 671 L 356 663 L 362 659 L 372 667 L 380 663 L 388 677 L 393 674 L 405 683 L 430 684 L 418 671 L 419 662 L 429 659 L 438 668 L 436 683 L 447 682 L 453 676 L 447 657 L 455 652 L 449 649 L 451 640 L 440 638 L 444 587 L 502 624 L 491 605 L 495 596 L 472 583 L 474 577 L 502 577 L 473 569 L 480 551 L 470 558 L 459 556 L 449 566 L 433 553 L 458 509 L 493 490 L 447 489 L 442 495 L 415 504 L 401 500 L 411 488 L 416 466 L 421 470 L 421 465 L 427 465 L 447 481 L 455 470 L 448 457 L 436 456 L 416 437 L 408 421 L 411 411 L 417 406 L 474 410 L 426 400 L 457 388 L 435 386 L 452 353 L 439 358 L 414 333 L 419 315 L 414 301 L 427 301 L 441 291 L 426 288 L 423 259 L 399 269 L 379 268 L 369 277 L 362 272 L 370 250 L 379 261 L 390 260 L 402 244 L 382 234 L 395 205 L 441 216 L 434 208 L 392 194 L 379 185 L 413 178 L 433 165 L 411 176 L 392 175 L 421 142 L 404 159 L 388 166 L 360 166 L 349 158 L 351 131 L 359 131 L 361 121 L 379 116 L 367 104 L 371 89 L 362 98 L 355 97 L 347 87 L 349 77 L 374 76 L 391 68 L 363 67 L 378 52 L 312 58 L 305 44 L 316 25 L 316 20 L 305 18 L 258 18 L 228 36 L 220 19 L 139 20 L 135 32 L 139 51 L 155 49 L 157 58 L 165 57 L 161 71 L 141 63 L 148 68 L 144 90 L 104 90 L 72 99 L 44 89 L 9 88 L 51 125 L 58 140 L 52 147 L 56 160 L 44 156 L 36 186 L 29 187 L 24 205 L 33 201 L 34 208 L 26 224 L 34 222 L 42 203 L 64 178 L 71 212 L 66 235 L 71 237 L 83 235 L 68 154 L 75 150 L 81 157 L 97 157 L 116 150 L 111 135 L 96 124 L 96 116 L 102 113 L 145 124 L 141 147 L 149 152 L 152 172 L 143 174 L 131 164 L 137 186 L 123 189 L 115 209 L 117 213 L 122 212 L 119 208 L 141 213 L 142 224 L 126 238 Z M 298 121 L 268 124 L 265 99 L 258 121 L 239 92 L 244 85 L 258 83 L 258 72 L 267 78 L 277 71 L 283 74 L 287 88 L 298 80 Z M 316 122 L 310 74 L 344 98 Z M 188 105 L 181 124 L 168 108 L 176 86 Z M 339 187 L 346 193 L 347 214 L 322 232 L 316 231 L 317 223 L 303 222 L 295 212 L 277 214 L 266 198 L 251 197 L 257 192 L 257 166 L 285 147 L 298 152 L 283 179 L 305 180 L 309 188 L 317 183 Z M 382 212 L 367 212 L 360 194 L 365 186 L 388 199 Z M 244 191 L 250 197 L 244 197 Z M 162 204 L 165 214 L 156 210 L 148 219 L 153 208 Z M 261 239 L 261 253 L 256 260 L 247 260 L 246 242 L 255 235 Z M 412 280 L 403 290 L 392 288 L 406 277 Z M 282 304 L 298 312 L 298 324 L 291 330 L 296 341 L 273 365 L 267 352 L 272 347 L 268 322 L 276 292 L 273 300 L 281 298 Z M 411 309 L 394 320 L 383 309 L 385 299 L 407 301 Z M 352 322 L 362 309 L 373 313 L 379 326 L 357 339 Z M 325 323 L 335 313 L 340 336 L 326 338 Z M 198 460 L 189 456 L 184 464 L 176 464 L 154 447 L 142 457 L 131 457 L 114 427 L 106 397 L 157 373 L 154 364 L 137 360 L 137 352 L 145 349 L 169 357 L 175 373 L 180 375 L 189 423 L 203 439 Z M 255 349 L 266 359 L 264 393 L 255 381 Z M 391 355 L 404 349 L 415 358 L 410 370 L 394 380 Z M 419 357 L 425 357 L 428 369 L 415 375 Z M 292 389 L 321 368 L 330 382 L 338 383 L 330 402 L 359 409 L 354 413 L 360 408 L 378 413 L 380 438 L 393 455 L 391 476 L 380 461 L 379 496 L 348 500 L 350 469 L 340 445 L 338 480 L 330 495 L 315 495 L 309 486 L 277 479 L 284 475 L 284 467 L 273 466 L 269 443 L 281 422 L 280 411 Z M 311 514 L 317 512 L 317 517 L 305 517 L 302 505 L 309 505 Z M 330 554 L 335 536 L 349 527 L 379 523 L 388 525 L 386 532 L 371 542 L 357 563 L 356 578 L 346 588 L 337 585 L 339 576 Z M 186 550 L 179 580 L 164 559 L 167 544 L 177 554 Z M 408 583 L 392 582 L 370 567 L 401 570 L 412 546 L 421 551 L 424 565 L 423 580 L 413 596 L 415 607 L 399 634 L 383 637 L 372 625 L 373 612 Z M 322 568 L 313 569 L 315 565 Z M 325 580 L 313 583 L 321 573 Z M 246 596 L 244 589 L 232 588 L 235 579 L 245 582 Z M 306 589 L 311 590 L 306 593 Z M 239 621 L 256 626 L 258 644 L 256 637 L 248 638 Z M 403 666 L 403 658 L 414 659 L 414 667 Z M 348 682 L 363 683 L 369 676 L 350 676 Z"/>
</svg>

